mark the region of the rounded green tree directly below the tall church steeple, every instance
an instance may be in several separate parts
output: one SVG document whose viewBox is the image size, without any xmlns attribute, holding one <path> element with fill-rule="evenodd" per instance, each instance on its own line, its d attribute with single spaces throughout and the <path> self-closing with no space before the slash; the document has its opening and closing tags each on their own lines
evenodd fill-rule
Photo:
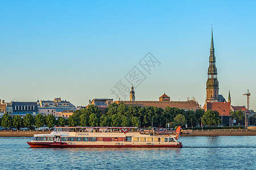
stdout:
<svg viewBox="0 0 256 170">
<path fill-rule="evenodd" d="M 213 111 L 211 109 L 204 112 L 202 117 L 202 122 L 204 125 L 218 125 L 220 124 L 220 114 L 217 111 Z"/>
</svg>

